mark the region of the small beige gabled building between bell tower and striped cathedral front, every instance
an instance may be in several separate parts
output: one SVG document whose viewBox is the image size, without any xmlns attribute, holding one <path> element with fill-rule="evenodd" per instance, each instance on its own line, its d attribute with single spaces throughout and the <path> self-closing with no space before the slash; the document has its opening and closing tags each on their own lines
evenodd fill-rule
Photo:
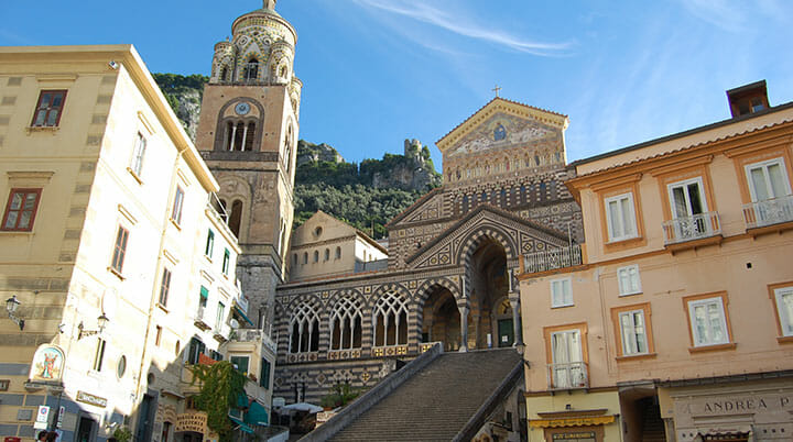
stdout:
<svg viewBox="0 0 793 442">
<path fill-rule="evenodd" d="M 388 251 L 358 229 L 323 212 L 292 234 L 291 281 L 383 269 Z"/>
</svg>

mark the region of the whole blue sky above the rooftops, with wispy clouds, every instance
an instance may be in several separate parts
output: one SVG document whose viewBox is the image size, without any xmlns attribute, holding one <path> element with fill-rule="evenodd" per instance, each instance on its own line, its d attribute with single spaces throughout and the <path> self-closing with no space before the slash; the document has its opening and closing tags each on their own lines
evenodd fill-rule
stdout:
<svg viewBox="0 0 793 442">
<path fill-rule="evenodd" d="M 217 5 L 220 4 L 220 5 Z M 0 45 L 132 43 L 152 71 L 205 74 L 258 0 L 0 0 Z M 435 141 L 501 97 L 569 115 L 568 159 L 724 120 L 765 79 L 793 101 L 786 0 L 281 0 L 297 30 L 301 137 L 348 161 Z M 46 11 L 44 15 L 42 12 Z"/>
</svg>

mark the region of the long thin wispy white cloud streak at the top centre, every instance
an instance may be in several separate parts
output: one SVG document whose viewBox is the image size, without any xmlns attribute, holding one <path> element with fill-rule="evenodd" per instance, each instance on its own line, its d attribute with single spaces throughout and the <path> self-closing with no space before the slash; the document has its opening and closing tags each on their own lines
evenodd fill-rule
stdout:
<svg viewBox="0 0 793 442">
<path fill-rule="evenodd" d="M 513 51 L 540 56 L 562 55 L 569 48 L 571 43 L 542 43 L 504 32 L 487 29 L 471 23 L 460 15 L 452 15 L 445 11 L 432 8 L 420 2 L 394 2 L 388 0 L 354 0 L 356 3 L 413 19 L 445 31 L 469 38 L 493 43 Z"/>
</svg>

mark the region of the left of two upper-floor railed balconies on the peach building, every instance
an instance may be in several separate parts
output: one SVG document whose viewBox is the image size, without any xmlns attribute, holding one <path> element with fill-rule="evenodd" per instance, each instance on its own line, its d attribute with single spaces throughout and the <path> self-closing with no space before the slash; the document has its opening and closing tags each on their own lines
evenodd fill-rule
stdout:
<svg viewBox="0 0 793 442">
<path fill-rule="evenodd" d="M 663 230 L 664 245 L 673 252 L 721 242 L 721 222 L 718 212 L 664 221 Z"/>
</svg>

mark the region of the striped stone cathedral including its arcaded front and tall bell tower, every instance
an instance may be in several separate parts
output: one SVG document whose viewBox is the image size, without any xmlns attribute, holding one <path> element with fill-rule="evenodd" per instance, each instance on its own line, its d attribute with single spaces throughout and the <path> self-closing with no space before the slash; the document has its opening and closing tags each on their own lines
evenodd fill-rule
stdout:
<svg viewBox="0 0 793 442">
<path fill-rule="evenodd" d="M 302 82 L 296 33 L 274 7 L 238 18 L 215 46 L 196 135 L 242 248 L 249 312 L 278 342 L 274 396 L 318 402 L 337 383 L 370 387 L 437 342 L 520 344 L 520 256 L 583 240 L 563 185 L 567 117 L 495 98 L 437 142 L 444 185 L 390 222 L 385 248 L 333 217 L 291 248 Z"/>
</svg>

